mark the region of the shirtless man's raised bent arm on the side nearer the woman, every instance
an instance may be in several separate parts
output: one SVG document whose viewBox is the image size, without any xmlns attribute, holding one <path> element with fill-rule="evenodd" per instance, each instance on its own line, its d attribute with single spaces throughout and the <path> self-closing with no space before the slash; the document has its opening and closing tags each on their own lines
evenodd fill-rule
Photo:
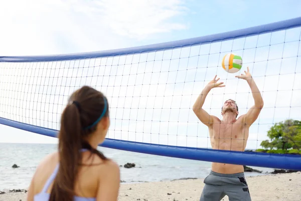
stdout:
<svg viewBox="0 0 301 201">
<path fill-rule="evenodd" d="M 206 126 L 209 126 L 213 123 L 213 116 L 209 115 L 202 107 L 204 105 L 205 99 L 209 91 L 214 87 L 224 87 L 225 85 L 222 85 L 224 82 L 217 83 L 219 80 L 216 79 L 216 75 L 211 80 L 205 88 L 202 90 L 201 94 L 198 96 L 195 104 L 193 105 L 193 112 L 196 114 L 196 116 L 199 118 L 199 120 L 205 124 Z"/>
</svg>

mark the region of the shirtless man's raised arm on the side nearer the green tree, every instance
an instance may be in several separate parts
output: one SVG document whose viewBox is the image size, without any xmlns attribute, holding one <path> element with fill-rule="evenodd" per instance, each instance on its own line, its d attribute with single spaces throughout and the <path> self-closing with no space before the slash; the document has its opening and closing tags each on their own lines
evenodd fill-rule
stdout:
<svg viewBox="0 0 301 201">
<path fill-rule="evenodd" d="M 247 72 L 246 71 L 244 72 L 246 73 L 245 75 L 241 74 L 235 77 L 246 80 L 252 91 L 252 95 L 254 98 L 254 106 L 252 106 L 248 110 L 247 114 L 245 114 L 243 117 L 243 122 L 246 125 L 251 126 L 256 121 L 256 119 L 260 114 L 261 109 L 263 108 L 263 99 L 254 79 L 252 78 L 252 75 L 249 71 L 249 67 L 247 68 Z"/>
</svg>

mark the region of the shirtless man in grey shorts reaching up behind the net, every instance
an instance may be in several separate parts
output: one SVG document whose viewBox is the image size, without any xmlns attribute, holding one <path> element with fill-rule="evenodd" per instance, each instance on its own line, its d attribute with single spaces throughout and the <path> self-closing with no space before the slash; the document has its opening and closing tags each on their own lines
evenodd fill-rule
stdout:
<svg viewBox="0 0 301 201">
<path fill-rule="evenodd" d="M 234 100 L 225 101 L 221 115 L 223 119 L 209 115 L 202 106 L 208 92 L 215 87 L 224 87 L 223 82 L 217 82 L 216 75 L 203 89 L 197 98 L 193 111 L 199 120 L 208 126 L 213 149 L 244 151 L 249 135 L 249 128 L 257 119 L 262 107 L 263 99 L 255 84 L 249 67 L 245 74 L 235 77 L 244 79 L 249 84 L 254 98 L 254 106 L 247 114 L 238 119 L 238 107 Z M 217 201 L 228 195 L 229 200 L 251 200 L 247 182 L 244 178 L 244 168 L 242 165 L 212 163 L 210 174 L 205 178 L 204 189 L 200 201 Z"/>
</svg>

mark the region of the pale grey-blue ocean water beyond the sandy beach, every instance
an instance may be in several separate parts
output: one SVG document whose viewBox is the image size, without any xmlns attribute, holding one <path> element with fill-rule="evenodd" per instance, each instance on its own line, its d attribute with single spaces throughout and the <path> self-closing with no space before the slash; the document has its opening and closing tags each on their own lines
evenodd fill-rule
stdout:
<svg viewBox="0 0 301 201">
<path fill-rule="evenodd" d="M 49 153 L 56 151 L 56 144 L 17 144 L 0 143 L 0 190 L 27 189 L 39 162 Z M 120 167 L 122 183 L 151 182 L 181 178 L 205 178 L 211 162 L 195 161 L 164 156 L 127 152 L 109 148 L 98 148 Z M 124 168 L 126 163 L 135 163 L 134 168 Z M 12 168 L 14 164 L 19 168 Z M 271 172 L 270 168 L 258 168 Z M 258 175 L 245 172 L 246 176 Z"/>
</svg>

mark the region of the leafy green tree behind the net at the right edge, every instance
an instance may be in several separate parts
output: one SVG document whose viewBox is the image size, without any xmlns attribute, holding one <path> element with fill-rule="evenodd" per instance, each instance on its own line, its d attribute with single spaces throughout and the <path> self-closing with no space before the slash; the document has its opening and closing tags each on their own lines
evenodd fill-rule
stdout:
<svg viewBox="0 0 301 201">
<path fill-rule="evenodd" d="M 301 121 L 288 119 L 276 123 L 267 132 L 267 136 L 270 140 L 262 141 L 260 144 L 265 149 L 299 150 L 301 148 Z"/>
</svg>

